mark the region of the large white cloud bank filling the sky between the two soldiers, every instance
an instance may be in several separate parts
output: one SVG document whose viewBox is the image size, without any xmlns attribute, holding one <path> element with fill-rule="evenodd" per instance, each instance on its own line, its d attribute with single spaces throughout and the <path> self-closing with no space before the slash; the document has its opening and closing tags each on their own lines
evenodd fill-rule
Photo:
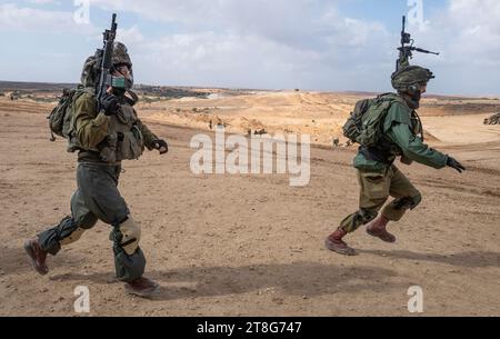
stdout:
<svg viewBox="0 0 500 339">
<path fill-rule="evenodd" d="M 383 64 L 390 48 L 382 24 L 343 18 L 334 1 L 92 3 L 181 24 L 181 33 L 157 41 L 120 38 L 134 53 L 136 78 L 144 82 L 366 90 L 376 84 L 378 67 L 371 64 Z"/>
</svg>

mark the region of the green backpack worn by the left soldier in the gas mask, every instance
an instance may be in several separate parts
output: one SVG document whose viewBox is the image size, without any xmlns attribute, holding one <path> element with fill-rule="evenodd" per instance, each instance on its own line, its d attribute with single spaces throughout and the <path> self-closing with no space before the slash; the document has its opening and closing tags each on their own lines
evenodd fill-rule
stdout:
<svg viewBox="0 0 500 339">
<path fill-rule="evenodd" d="M 51 134 L 50 141 L 56 141 L 56 136 L 67 139 L 68 152 L 74 152 L 79 149 L 76 141 L 73 106 L 78 98 L 88 92 L 90 92 L 90 89 L 82 86 L 76 89 L 64 89 L 58 106 L 47 117 Z"/>
</svg>

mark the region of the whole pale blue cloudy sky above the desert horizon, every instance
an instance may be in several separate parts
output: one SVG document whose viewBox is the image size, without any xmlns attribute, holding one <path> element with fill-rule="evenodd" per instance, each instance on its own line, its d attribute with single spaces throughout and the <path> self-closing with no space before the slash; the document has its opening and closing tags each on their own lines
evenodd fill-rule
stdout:
<svg viewBox="0 0 500 339">
<path fill-rule="evenodd" d="M 83 24 L 73 3 L 0 0 L 1 80 L 78 81 L 116 11 L 140 83 L 387 91 L 401 16 L 421 13 L 430 91 L 500 94 L 497 0 L 90 0 Z"/>
</svg>

